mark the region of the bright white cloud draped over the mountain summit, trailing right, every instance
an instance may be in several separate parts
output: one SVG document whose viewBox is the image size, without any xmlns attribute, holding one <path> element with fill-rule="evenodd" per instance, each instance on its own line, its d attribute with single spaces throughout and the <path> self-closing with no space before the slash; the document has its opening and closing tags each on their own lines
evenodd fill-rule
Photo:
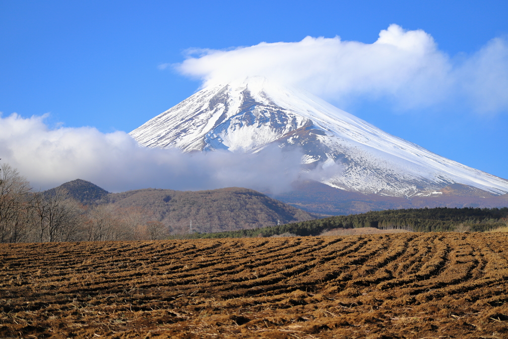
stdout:
<svg viewBox="0 0 508 339">
<path fill-rule="evenodd" d="M 506 102 L 507 43 L 494 39 L 455 64 L 423 30 L 396 24 L 372 44 L 306 37 L 300 42 L 260 43 L 230 50 L 193 52 L 176 68 L 203 86 L 246 76 L 265 76 L 303 87 L 345 104 L 358 98 L 388 98 L 399 108 L 424 108 L 472 98 L 478 111 L 503 111 Z"/>
</svg>

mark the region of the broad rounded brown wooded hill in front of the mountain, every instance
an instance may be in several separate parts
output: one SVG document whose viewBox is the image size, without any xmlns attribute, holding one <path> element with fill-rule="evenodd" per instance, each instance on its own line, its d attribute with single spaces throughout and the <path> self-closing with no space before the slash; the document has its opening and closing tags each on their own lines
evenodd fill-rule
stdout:
<svg viewBox="0 0 508 339">
<path fill-rule="evenodd" d="M 152 211 L 171 232 L 234 231 L 312 220 L 309 213 L 257 191 L 227 188 L 208 191 L 144 189 L 109 195 L 116 207 Z"/>
</svg>

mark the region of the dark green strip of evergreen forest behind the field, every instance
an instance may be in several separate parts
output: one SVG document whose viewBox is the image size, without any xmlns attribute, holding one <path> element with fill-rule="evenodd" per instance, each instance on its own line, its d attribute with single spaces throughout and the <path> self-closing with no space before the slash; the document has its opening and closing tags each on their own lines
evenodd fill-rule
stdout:
<svg viewBox="0 0 508 339">
<path fill-rule="evenodd" d="M 309 220 L 274 227 L 196 234 L 194 237 L 252 237 L 293 233 L 300 236 L 319 235 L 334 228 L 375 227 L 380 229 L 406 229 L 415 232 L 471 231 L 483 232 L 505 225 L 508 207 L 503 208 L 419 208 L 371 211 L 362 214 L 338 215 L 325 219 Z"/>
</svg>

